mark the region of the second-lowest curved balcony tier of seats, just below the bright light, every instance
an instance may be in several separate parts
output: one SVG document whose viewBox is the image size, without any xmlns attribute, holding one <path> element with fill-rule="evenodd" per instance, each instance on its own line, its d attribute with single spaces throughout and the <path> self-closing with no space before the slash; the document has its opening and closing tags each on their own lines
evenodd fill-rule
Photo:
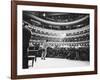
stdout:
<svg viewBox="0 0 100 80">
<path fill-rule="evenodd" d="M 32 35 L 31 37 L 32 40 L 48 40 L 49 42 L 79 42 L 79 41 L 88 41 L 89 40 L 89 35 L 83 35 L 79 37 L 71 37 L 71 38 L 52 38 L 52 37 L 43 37 L 43 36 L 37 36 L 37 35 Z"/>
</svg>

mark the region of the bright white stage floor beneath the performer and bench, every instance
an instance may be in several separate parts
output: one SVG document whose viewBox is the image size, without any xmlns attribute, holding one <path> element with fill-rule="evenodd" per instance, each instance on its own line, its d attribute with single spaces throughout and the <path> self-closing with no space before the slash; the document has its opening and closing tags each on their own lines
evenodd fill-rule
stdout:
<svg viewBox="0 0 100 80">
<path fill-rule="evenodd" d="M 37 61 L 34 63 L 34 66 L 31 67 L 32 62 L 29 61 L 29 68 L 34 69 L 43 69 L 43 68 L 66 68 L 66 67 L 83 67 L 89 66 L 89 61 L 79 61 L 79 60 L 69 60 L 69 59 L 58 59 L 58 58 L 46 58 L 41 60 L 40 57 L 37 58 Z"/>
</svg>

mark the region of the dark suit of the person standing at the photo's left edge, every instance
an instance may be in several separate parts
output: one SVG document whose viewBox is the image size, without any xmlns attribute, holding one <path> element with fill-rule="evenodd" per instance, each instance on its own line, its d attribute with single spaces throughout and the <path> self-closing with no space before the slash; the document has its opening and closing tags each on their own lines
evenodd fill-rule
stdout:
<svg viewBox="0 0 100 80">
<path fill-rule="evenodd" d="M 29 46 L 29 40 L 31 38 L 31 32 L 23 28 L 23 68 L 28 68 L 28 55 L 27 48 Z"/>
</svg>

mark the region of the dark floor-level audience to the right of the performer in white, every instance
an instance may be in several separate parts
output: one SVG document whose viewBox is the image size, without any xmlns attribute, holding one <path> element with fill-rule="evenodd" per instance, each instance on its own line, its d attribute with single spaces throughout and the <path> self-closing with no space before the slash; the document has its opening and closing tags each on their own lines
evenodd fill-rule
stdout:
<svg viewBox="0 0 100 80">
<path fill-rule="evenodd" d="M 89 48 L 47 48 L 47 57 L 89 61 Z"/>
</svg>

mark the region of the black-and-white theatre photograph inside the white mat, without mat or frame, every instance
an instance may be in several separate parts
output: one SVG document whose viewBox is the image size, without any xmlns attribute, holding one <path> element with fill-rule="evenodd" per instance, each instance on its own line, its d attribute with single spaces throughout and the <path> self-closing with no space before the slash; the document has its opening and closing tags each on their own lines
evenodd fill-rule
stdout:
<svg viewBox="0 0 100 80">
<path fill-rule="evenodd" d="M 23 11 L 22 15 L 23 68 L 28 68 L 29 61 L 33 67 L 41 61 L 54 61 L 65 67 L 70 61 L 71 64 L 80 62 L 80 65 L 89 63 L 89 14 Z"/>
</svg>

